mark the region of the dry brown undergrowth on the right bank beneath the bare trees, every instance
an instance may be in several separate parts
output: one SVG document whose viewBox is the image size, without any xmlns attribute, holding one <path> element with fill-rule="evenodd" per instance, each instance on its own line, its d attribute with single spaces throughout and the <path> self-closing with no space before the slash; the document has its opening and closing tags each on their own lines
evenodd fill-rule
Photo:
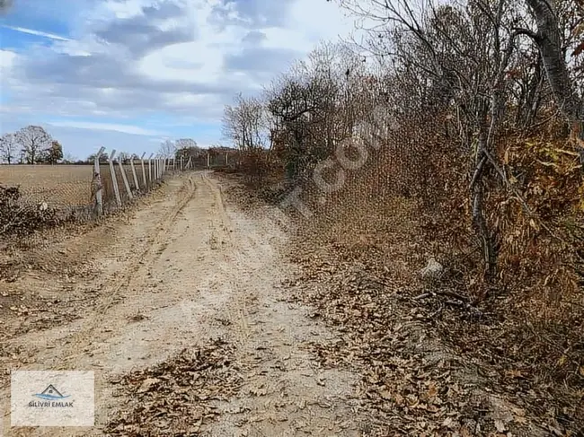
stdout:
<svg viewBox="0 0 584 437">
<path fill-rule="evenodd" d="M 504 183 L 491 180 L 486 210 L 500 232 L 500 277 L 487 288 L 464 154 L 434 131 L 426 126 L 416 147 L 405 133 L 403 141 L 395 138 L 391 150 L 347 171 L 335 193 L 305 184 L 301 198 L 314 215 L 300 223 L 299 240 L 325 252 L 319 257 L 335 270 L 342 254 L 341 261 L 399 290 L 429 332 L 464 362 L 486 369 L 496 391 L 525 402 L 545 426 L 564 421 L 566 430 L 584 429 L 584 188 L 577 153 L 561 135 L 509 133 L 500 140 L 499 160 L 509 175 L 518 175 L 511 183 L 535 218 Z M 446 274 L 422 284 L 418 272 L 430 255 Z M 344 308 L 352 299 L 336 290 L 329 300 L 318 296 L 323 306 L 342 301 Z"/>
</svg>

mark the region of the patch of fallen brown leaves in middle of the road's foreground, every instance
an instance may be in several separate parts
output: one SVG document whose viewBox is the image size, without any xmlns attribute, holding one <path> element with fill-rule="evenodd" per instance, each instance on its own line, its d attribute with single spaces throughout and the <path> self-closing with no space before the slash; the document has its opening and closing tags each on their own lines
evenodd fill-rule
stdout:
<svg viewBox="0 0 584 437">
<path fill-rule="evenodd" d="M 214 402 L 241 386 L 233 346 L 223 340 L 185 349 L 172 359 L 114 381 L 131 398 L 107 425 L 108 435 L 199 435 L 218 415 Z"/>
</svg>

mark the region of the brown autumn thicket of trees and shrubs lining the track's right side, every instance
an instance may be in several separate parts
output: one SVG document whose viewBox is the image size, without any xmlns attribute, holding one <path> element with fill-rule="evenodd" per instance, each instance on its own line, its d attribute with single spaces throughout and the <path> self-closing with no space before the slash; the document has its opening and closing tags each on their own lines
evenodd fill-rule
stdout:
<svg viewBox="0 0 584 437">
<path fill-rule="evenodd" d="M 385 282 L 428 296 L 416 308 L 429 311 L 427 327 L 458 354 L 492 366 L 500 389 L 525 394 L 534 415 L 563 415 L 571 423 L 565 429 L 579 429 L 584 149 L 574 114 L 584 99 L 582 56 L 576 50 L 558 69 L 562 77 L 550 76 L 553 60 L 544 62 L 540 50 L 554 48 L 528 30 L 550 31 L 552 23 L 565 47 L 578 48 L 581 14 L 571 0 L 554 6 L 555 22 L 535 20 L 508 0 L 413 2 L 411 9 L 401 0 L 341 3 L 380 23 L 369 48 L 382 69 L 354 67 L 339 51 L 332 58 L 344 64 L 290 72 L 265 101 L 274 120 L 271 160 L 286 174 L 279 184 L 263 179 L 262 189 L 300 188 L 312 213 L 293 214 L 302 219 L 302 240 L 328 249 L 333 266 L 339 251 L 365 268 L 385 265 Z M 329 55 L 316 52 L 313 59 Z M 557 104 L 567 91 L 570 108 Z M 385 117 L 374 117 L 378 109 Z M 366 144 L 365 162 L 341 165 L 340 154 L 358 162 L 359 144 Z M 322 171 L 323 162 L 332 165 Z M 339 187 L 323 189 L 322 180 L 340 176 Z M 444 275 L 419 284 L 430 256 Z M 357 319 L 367 312 L 368 297 L 330 293 L 314 302 L 358 311 Z M 332 323 L 340 317 L 324 312 Z"/>
</svg>

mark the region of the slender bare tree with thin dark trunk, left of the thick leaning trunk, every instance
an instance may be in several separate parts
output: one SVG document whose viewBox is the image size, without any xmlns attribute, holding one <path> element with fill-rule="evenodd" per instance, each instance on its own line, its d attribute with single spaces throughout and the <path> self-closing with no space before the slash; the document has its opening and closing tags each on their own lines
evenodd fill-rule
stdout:
<svg viewBox="0 0 584 437">
<path fill-rule="evenodd" d="M 485 278 L 490 281 L 496 276 L 500 236 L 487 218 L 486 198 L 496 179 L 503 176 L 495 144 L 509 98 L 509 72 L 525 35 L 514 24 L 521 22 L 525 11 L 511 0 L 440 4 L 431 0 L 341 0 L 341 4 L 377 23 L 370 29 L 369 48 L 390 59 L 391 75 L 409 94 L 399 92 L 402 102 L 391 110 L 409 112 L 403 113 L 405 121 L 420 118 L 420 114 L 429 120 L 448 112 L 456 117 L 461 152 L 466 154 L 470 172 L 473 227 L 484 258 Z M 412 155 L 414 162 L 429 153 L 423 146 L 411 145 L 418 148 L 418 156 Z M 428 165 L 418 167 L 429 169 Z"/>
</svg>

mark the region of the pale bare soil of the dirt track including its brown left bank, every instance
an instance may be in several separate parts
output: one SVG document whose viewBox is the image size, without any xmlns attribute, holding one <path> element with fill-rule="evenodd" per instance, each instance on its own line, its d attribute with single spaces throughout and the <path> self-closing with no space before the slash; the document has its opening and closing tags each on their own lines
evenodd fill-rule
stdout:
<svg viewBox="0 0 584 437">
<path fill-rule="evenodd" d="M 10 266 L 4 259 L 18 274 L 0 282 L 2 398 L 10 370 L 96 378 L 95 427 L 9 429 L 3 403 L 4 432 L 364 435 L 358 374 L 314 360 L 310 343 L 335 334 L 281 286 L 295 274 L 279 255 L 283 238 L 194 172 L 170 179 L 133 216 L 12 254 Z M 205 383 L 176 398 L 185 369 L 200 369 Z M 161 388 L 169 378 L 175 385 Z M 160 412 L 157 396 L 171 406 L 167 420 L 140 414 Z M 173 420 L 173 411 L 189 414 Z"/>
</svg>

